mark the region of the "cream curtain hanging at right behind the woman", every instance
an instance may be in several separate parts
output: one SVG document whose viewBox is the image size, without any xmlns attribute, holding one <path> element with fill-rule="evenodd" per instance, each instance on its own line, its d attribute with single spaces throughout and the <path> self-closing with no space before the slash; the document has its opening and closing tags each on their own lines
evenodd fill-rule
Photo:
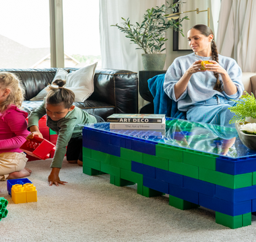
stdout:
<svg viewBox="0 0 256 242">
<path fill-rule="evenodd" d="M 221 3 L 217 46 L 220 54 L 236 60 L 243 72 L 256 72 L 256 1 Z"/>
</svg>

